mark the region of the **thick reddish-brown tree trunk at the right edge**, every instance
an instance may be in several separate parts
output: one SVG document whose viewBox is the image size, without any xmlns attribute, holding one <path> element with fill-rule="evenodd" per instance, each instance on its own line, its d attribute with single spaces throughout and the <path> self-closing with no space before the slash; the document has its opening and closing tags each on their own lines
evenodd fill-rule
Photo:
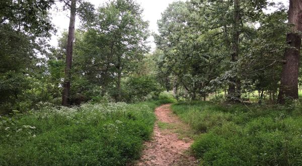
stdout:
<svg viewBox="0 0 302 166">
<path fill-rule="evenodd" d="M 284 60 L 281 75 L 281 85 L 278 95 L 278 103 L 284 104 L 285 98 L 298 99 L 298 69 L 301 48 L 302 31 L 302 1 L 290 0 L 288 10 L 288 23 L 292 24 L 292 30 L 287 34 Z"/>
</svg>

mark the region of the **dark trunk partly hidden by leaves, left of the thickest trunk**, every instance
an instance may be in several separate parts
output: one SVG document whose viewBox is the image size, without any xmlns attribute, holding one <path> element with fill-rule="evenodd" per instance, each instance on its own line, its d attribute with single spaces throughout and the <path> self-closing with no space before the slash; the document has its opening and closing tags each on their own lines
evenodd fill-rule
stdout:
<svg viewBox="0 0 302 166">
<path fill-rule="evenodd" d="M 239 0 L 234 0 L 234 25 L 233 25 L 233 42 L 232 42 L 232 62 L 238 61 L 239 55 L 239 35 L 240 35 L 240 4 Z M 230 79 L 229 100 L 233 102 L 238 102 L 241 98 L 241 80 L 235 76 Z"/>
</svg>

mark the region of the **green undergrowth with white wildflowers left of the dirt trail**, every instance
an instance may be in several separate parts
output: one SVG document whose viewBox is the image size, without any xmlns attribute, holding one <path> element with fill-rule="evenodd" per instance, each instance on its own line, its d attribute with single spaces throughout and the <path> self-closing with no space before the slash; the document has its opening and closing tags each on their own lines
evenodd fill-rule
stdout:
<svg viewBox="0 0 302 166">
<path fill-rule="evenodd" d="M 153 132 L 153 110 L 173 102 L 41 104 L 1 117 L 0 165 L 125 165 L 139 158 Z"/>
</svg>

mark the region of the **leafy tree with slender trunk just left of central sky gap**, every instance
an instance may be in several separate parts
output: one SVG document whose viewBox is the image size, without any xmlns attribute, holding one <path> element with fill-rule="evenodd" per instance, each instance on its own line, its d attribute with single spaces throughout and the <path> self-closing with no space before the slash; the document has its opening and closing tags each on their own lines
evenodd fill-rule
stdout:
<svg viewBox="0 0 302 166">
<path fill-rule="evenodd" d="M 140 6 L 131 0 L 105 4 L 86 26 L 81 48 L 85 51 L 79 50 L 78 58 L 85 61 L 85 75 L 102 86 L 102 95 L 110 89 L 109 83 L 115 81 L 112 93 L 116 101 L 121 100 L 122 76 L 134 71 L 148 51 L 147 27 Z"/>
</svg>

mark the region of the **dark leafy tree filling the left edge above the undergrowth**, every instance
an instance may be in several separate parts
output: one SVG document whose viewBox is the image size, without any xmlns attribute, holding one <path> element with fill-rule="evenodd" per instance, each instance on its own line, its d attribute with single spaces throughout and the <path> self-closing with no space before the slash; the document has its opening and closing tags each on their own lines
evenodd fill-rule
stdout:
<svg viewBox="0 0 302 166">
<path fill-rule="evenodd" d="M 0 114 L 24 111 L 36 101 L 33 85 L 44 65 L 38 55 L 45 53 L 44 39 L 54 31 L 47 12 L 52 4 L 0 1 Z"/>
</svg>

